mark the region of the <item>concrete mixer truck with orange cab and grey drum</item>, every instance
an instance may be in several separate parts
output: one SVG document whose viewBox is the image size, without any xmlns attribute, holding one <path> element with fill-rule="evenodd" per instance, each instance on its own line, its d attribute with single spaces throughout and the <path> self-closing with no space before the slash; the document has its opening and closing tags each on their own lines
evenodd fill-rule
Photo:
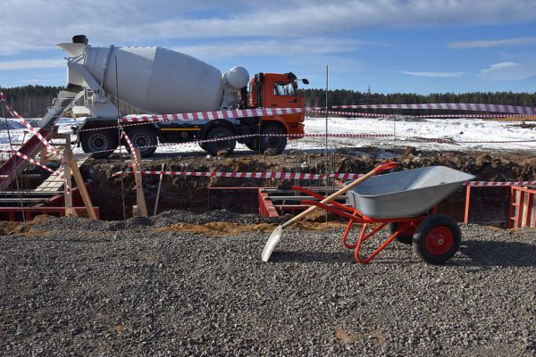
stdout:
<svg viewBox="0 0 536 357">
<path fill-rule="evenodd" d="M 118 133 L 118 104 L 124 103 L 150 114 L 210 112 L 248 108 L 301 108 L 297 79 L 292 72 L 257 73 L 251 79 L 246 69 L 234 67 L 222 73 L 188 54 L 162 47 L 93 47 L 84 35 L 58 45 L 67 58 L 67 90 L 78 93 L 82 105 L 73 112 L 87 117 L 76 127 L 78 143 L 86 153 L 102 158 L 124 145 Z M 118 100 L 119 99 L 119 100 Z M 78 102 L 80 102 L 80 100 Z M 78 103 L 77 102 L 77 103 Z M 133 145 L 142 156 L 155 152 L 160 143 L 217 139 L 251 134 L 238 142 L 251 150 L 285 149 L 285 134 L 304 133 L 304 112 L 225 120 L 180 120 L 124 124 Z M 289 139 L 292 139 L 289 136 Z M 237 140 L 223 139 L 200 144 L 209 154 L 234 150 Z"/>
</svg>

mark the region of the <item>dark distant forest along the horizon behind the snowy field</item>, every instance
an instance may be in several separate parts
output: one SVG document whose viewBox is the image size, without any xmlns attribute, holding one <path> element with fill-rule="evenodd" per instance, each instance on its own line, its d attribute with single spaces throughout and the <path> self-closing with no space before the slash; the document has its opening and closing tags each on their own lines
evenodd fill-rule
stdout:
<svg viewBox="0 0 536 357">
<path fill-rule="evenodd" d="M 43 116 L 62 87 L 25 86 L 3 88 L 9 104 L 21 113 L 23 117 L 38 118 Z M 301 95 L 306 106 L 325 106 L 325 91 L 323 89 L 302 89 Z M 334 89 L 328 92 L 328 104 L 417 104 L 417 103 L 481 103 L 509 104 L 536 107 L 536 93 L 514 92 L 473 92 L 473 93 L 431 93 L 417 95 L 414 93 L 381 93 L 359 92 L 347 89 Z M 369 110 L 368 112 L 390 113 L 392 110 Z M 430 111 L 418 111 L 426 114 Z M 436 111 L 438 112 L 438 111 Z M 447 113 L 442 111 L 443 113 Z M 417 113 L 405 111 L 406 114 Z M 6 113 L 9 117 L 9 113 Z M 0 116 L 4 112 L 0 111 Z"/>
</svg>

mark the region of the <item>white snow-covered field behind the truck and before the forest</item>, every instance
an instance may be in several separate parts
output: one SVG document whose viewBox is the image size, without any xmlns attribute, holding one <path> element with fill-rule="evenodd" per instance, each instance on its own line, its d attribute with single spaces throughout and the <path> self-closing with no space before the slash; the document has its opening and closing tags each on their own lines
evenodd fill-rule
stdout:
<svg viewBox="0 0 536 357">
<path fill-rule="evenodd" d="M 16 120 L 8 120 L 13 143 L 28 139 L 25 129 Z M 4 119 L 0 120 L 4 123 Z M 62 119 L 58 122 L 60 132 L 71 131 L 71 125 L 77 122 Z M 491 121 L 473 118 L 424 119 L 422 121 L 405 121 L 403 117 L 393 118 L 338 118 L 328 120 L 330 134 L 389 134 L 394 137 L 330 137 L 329 148 L 378 146 L 389 149 L 395 146 L 412 145 L 424 150 L 530 150 L 536 149 L 536 129 L 520 128 L 517 121 Z M 534 123 L 534 122 L 532 122 Z M 324 118 L 306 118 L 307 134 L 325 133 Z M 0 149 L 9 150 L 9 139 L 5 124 L 0 126 Z M 18 128 L 18 129 L 17 129 Z M 423 139 L 443 139 L 450 143 L 438 143 Z M 73 137 L 74 139 L 74 137 Z M 504 143 L 504 141 L 525 140 L 525 143 Z M 503 141 L 503 143 L 498 143 Z M 454 143 L 456 142 L 456 143 Z M 478 143 L 475 143 L 478 142 Z M 15 146 L 14 148 L 17 148 Z M 293 140 L 289 149 L 323 149 L 324 137 L 305 137 Z M 245 145 L 237 145 L 237 150 L 247 150 Z M 75 152 L 81 151 L 75 148 Z M 162 145 L 157 153 L 201 151 L 198 145 Z"/>
</svg>

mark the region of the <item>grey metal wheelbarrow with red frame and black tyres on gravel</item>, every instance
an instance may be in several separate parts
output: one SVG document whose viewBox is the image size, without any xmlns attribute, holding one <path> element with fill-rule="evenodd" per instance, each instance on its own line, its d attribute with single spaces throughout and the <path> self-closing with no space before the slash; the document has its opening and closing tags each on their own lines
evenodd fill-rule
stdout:
<svg viewBox="0 0 536 357">
<path fill-rule="evenodd" d="M 472 179 L 473 175 L 462 171 L 431 166 L 367 179 L 348 191 L 349 206 L 335 201 L 304 200 L 300 203 L 315 205 L 348 220 L 342 245 L 354 250 L 356 262 L 371 262 L 397 239 L 401 243 L 413 244 L 415 253 L 423 261 L 441 264 L 454 256 L 462 234 L 456 220 L 436 213 L 437 204 Z M 312 195 L 319 201 L 325 198 L 304 187 L 285 188 Z M 349 243 L 348 234 L 356 222 L 363 227 L 356 242 Z M 369 256 L 362 257 L 359 252 L 364 241 L 383 228 L 389 228 L 389 237 Z"/>
</svg>

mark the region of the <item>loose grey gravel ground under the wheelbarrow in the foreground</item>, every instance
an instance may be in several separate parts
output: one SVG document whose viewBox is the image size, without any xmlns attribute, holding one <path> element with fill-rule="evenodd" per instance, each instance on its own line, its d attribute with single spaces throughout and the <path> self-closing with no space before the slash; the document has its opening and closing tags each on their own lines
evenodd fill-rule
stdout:
<svg viewBox="0 0 536 357">
<path fill-rule="evenodd" d="M 463 226 L 444 266 L 392 244 L 358 265 L 340 229 L 159 232 L 256 216 L 44 220 L 0 237 L 0 353 L 13 355 L 536 354 L 536 231 Z"/>
</svg>

